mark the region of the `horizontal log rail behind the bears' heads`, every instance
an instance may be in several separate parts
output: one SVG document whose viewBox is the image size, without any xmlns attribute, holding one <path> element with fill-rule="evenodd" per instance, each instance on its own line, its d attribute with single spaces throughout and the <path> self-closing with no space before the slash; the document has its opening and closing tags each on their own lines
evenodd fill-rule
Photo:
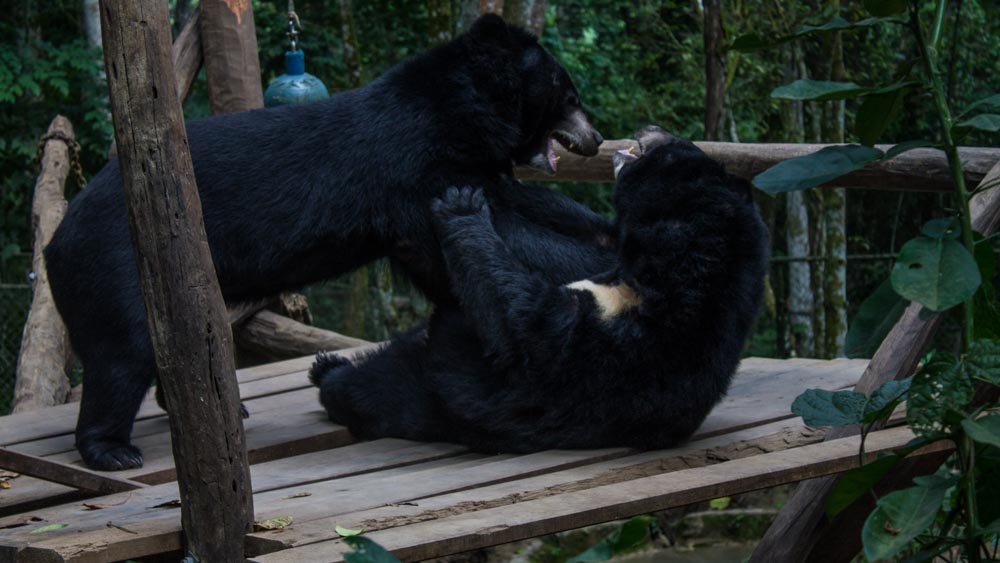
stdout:
<svg viewBox="0 0 1000 563">
<path fill-rule="evenodd" d="M 782 160 L 804 156 L 829 145 L 817 144 L 760 144 L 760 143 L 695 143 L 708 156 L 725 165 L 730 174 L 753 178 Z M 572 154 L 561 146 L 556 147 L 559 168 L 555 175 L 547 176 L 533 168 L 518 167 L 515 175 L 521 180 L 543 182 L 613 182 L 611 156 L 615 151 L 638 147 L 632 139 L 604 141 L 594 157 Z M 887 150 L 892 145 L 877 145 Z M 990 168 L 1000 161 L 1000 149 L 965 147 L 959 149 L 965 165 L 965 181 L 970 186 L 979 184 Z M 841 176 L 836 187 L 903 190 L 918 192 L 951 192 L 951 175 L 948 161 L 939 150 L 914 149 L 888 161 L 871 164 L 862 170 Z M 832 184 L 831 184 L 832 185 Z"/>
</svg>

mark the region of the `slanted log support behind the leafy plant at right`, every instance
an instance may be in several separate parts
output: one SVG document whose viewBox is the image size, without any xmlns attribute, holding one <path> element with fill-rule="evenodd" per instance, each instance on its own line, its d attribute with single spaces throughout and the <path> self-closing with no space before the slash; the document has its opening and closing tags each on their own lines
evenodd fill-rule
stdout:
<svg viewBox="0 0 1000 563">
<path fill-rule="evenodd" d="M 998 180 L 1000 180 L 1000 163 L 989 170 L 979 185 L 985 187 Z M 978 193 L 970 202 L 970 209 L 973 229 L 987 236 L 996 232 L 1000 226 L 1000 189 L 993 188 Z M 886 381 L 903 379 L 911 375 L 917 367 L 917 362 L 926 352 L 942 317 L 943 315 L 925 311 L 919 304 L 911 303 L 882 341 L 854 390 L 870 394 Z M 853 427 L 834 428 L 827 434 L 826 439 L 833 440 L 856 433 L 857 430 Z M 911 471 L 926 469 L 918 464 L 912 464 L 910 467 Z M 909 477 L 914 474 L 919 473 L 910 472 L 902 478 L 897 476 L 896 480 L 901 485 L 907 485 L 910 482 Z M 820 560 L 819 546 L 838 544 L 837 541 L 831 540 L 831 536 L 846 536 L 852 540 L 860 537 L 863 519 L 855 521 L 838 519 L 837 525 L 834 526 L 826 518 L 825 499 L 836 484 L 836 480 L 834 476 L 800 483 L 757 545 L 751 561 L 792 563 Z"/>
</svg>

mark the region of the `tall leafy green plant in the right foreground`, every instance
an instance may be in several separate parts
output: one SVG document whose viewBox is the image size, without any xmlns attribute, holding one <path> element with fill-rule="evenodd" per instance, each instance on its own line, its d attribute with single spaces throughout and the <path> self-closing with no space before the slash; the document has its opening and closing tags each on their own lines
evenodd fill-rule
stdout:
<svg viewBox="0 0 1000 563">
<path fill-rule="evenodd" d="M 983 540 L 996 532 L 984 531 L 979 505 L 988 506 L 990 497 L 977 486 L 977 467 L 989 463 L 984 452 L 1000 446 L 1000 415 L 982 413 L 995 409 L 996 404 L 976 404 L 975 385 L 1000 383 L 1000 341 L 976 340 L 977 320 L 994 325 L 995 309 L 974 310 L 974 296 L 989 293 L 981 289 L 983 280 L 992 281 L 995 274 L 995 251 L 974 233 L 970 220 L 969 190 L 965 186 L 957 142 L 970 131 L 1000 130 L 1000 115 L 994 110 L 1000 97 L 989 96 L 971 104 L 953 117 L 948 94 L 942 80 L 940 30 L 944 23 L 947 1 L 918 2 L 917 0 L 867 0 L 870 15 L 857 24 L 848 24 L 836 17 L 829 24 L 800 28 L 795 34 L 777 38 L 752 35 L 737 39 L 736 47 L 757 49 L 791 41 L 807 35 L 866 28 L 876 23 L 890 25 L 897 17 L 905 17 L 913 53 L 900 57 L 902 61 L 885 86 L 861 87 L 854 82 L 799 80 L 776 88 L 772 97 L 790 100 L 823 101 L 830 99 L 864 98 L 858 111 L 856 130 L 862 145 L 827 147 L 815 153 L 785 161 L 766 170 L 754 179 L 754 184 L 768 193 L 802 190 L 829 182 L 853 172 L 869 162 L 892 158 L 916 147 L 935 146 L 948 158 L 954 182 L 954 203 L 945 217 L 924 225 L 919 236 L 906 242 L 892 268 L 891 290 L 883 284 L 863 305 L 862 325 L 854 327 L 854 340 L 870 348 L 884 332 L 885 326 L 876 319 L 898 313 L 900 298 L 922 305 L 931 313 L 942 313 L 963 305 L 961 324 L 963 352 L 953 356 L 936 352 L 912 380 L 890 381 L 870 396 L 856 391 L 830 392 L 810 389 L 795 399 L 792 412 L 802 416 L 806 424 L 861 426 L 861 466 L 838 482 L 828 498 L 827 513 L 832 518 L 857 498 L 872 491 L 900 459 L 910 452 L 936 440 L 948 439 L 957 444 L 954 467 L 945 466 L 938 474 L 915 479 L 915 486 L 892 492 L 877 500 L 862 531 L 865 556 L 869 560 L 895 558 L 904 552 L 914 552 L 919 560 L 932 559 L 935 554 L 959 546 L 970 561 L 980 561 Z M 923 9 L 927 13 L 922 13 Z M 876 21 L 876 18 L 891 17 Z M 930 23 L 927 21 L 930 20 Z M 931 30 L 931 31 L 928 31 Z M 954 34 L 958 37 L 956 30 Z M 919 66 L 915 63 L 919 63 Z M 919 68 L 919 71 L 917 69 Z M 929 94 L 929 108 L 937 122 L 938 140 L 934 143 L 918 140 L 900 143 L 887 151 L 872 145 L 890 127 L 901 111 L 901 92 L 921 90 Z M 964 117 L 963 117 L 964 116 Z M 932 122 L 933 122 L 932 121 Z M 977 245 L 984 248 L 977 249 Z M 991 294 L 992 295 L 992 294 Z M 880 313 L 880 310 L 883 311 Z M 992 315 L 992 318 L 990 318 Z M 868 335 L 863 334 L 868 331 Z M 868 432 L 883 423 L 895 406 L 907 397 L 907 422 L 917 435 L 907 448 L 866 462 L 864 441 Z M 995 491 L 988 494 L 993 495 Z M 950 503 L 946 502 L 950 498 Z M 943 515 L 939 516 L 939 512 Z M 946 513 L 946 514 L 945 514 Z M 992 516 L 992 515 L 990 515 Z M 938 523 L 941 523 L 940 525 Z"/>
</svg>

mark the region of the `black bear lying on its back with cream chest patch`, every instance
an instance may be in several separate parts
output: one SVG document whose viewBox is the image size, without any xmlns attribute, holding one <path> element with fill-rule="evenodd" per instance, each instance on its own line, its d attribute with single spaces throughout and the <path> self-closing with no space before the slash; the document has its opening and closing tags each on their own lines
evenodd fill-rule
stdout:
<svg viewBox="0 0 1000 563">
<path fill-rule="evenodd" d="M 434 202 L 452 310 L 357 366 L 310 373 L 330 418 L 364 438 L 480 451 L 662 448 L 725 394 L 757 315 L 768 235 L 747 182 L 659 128 L 615 156 L 618 262 L 558 285 L 495 231 L 480 190 Z"/>
</svg>

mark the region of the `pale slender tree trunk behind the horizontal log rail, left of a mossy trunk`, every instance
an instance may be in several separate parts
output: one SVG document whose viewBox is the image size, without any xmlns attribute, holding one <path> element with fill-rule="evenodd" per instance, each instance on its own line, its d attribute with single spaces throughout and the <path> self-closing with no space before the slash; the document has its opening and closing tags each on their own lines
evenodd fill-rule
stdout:
<svg viewBox="0 0 1000 563">
<path fill-rule="evenodd" d="M 801 52 L 796 45 L 787 51 L 785 82 L 800 77 Z M 786 140 L 801 143 L 804 140 L 802 102 L 784 102 L 782 126 Z M 809 213 L 805 194 L 801 191 L 785 194 L 785 244 L 792 257 L 809 255 Z M 813 294 L 808 262 L 788 263 L 788 324 L 792 350 L 798 356 L 811 356 L 815 350 L 812 330 Z"/>
</svg>

